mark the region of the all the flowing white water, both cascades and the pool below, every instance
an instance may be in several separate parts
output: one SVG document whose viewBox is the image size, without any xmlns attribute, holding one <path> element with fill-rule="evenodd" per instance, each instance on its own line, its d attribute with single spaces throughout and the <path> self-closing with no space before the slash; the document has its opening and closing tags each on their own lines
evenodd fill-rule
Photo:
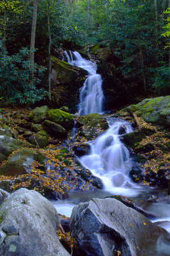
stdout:
<svg viewBox="0 0 170 256">
<path fill-rule="evenodd" d="M 102 77 L 96 74 L 96 63 L 85 60 L 78 52 L 69 51 L 65 54 L 69 64 L 84 68 L 89 74 L 80 89 L 78 113 L 80 115 L 103 113 Z M 119 118 L 108 118 L 107 122 L 109 129 L 96 140 L 89 141 L 90 154 L 78 159 L 85 168 L 103 181 L 104 189 L 85 191 L 84 193 L 74 191 L 69 194 L 67 200 L 53 201 L 53 205 L 60 214 L 70 216 L 74 205 L 95 197 L 123 195 L 146 202 L 151 195 L 166 196 L 165 191 L 138 186 L 132 182 L 129 178 L 129 172 L 133 166 L 133 159 L 129 150 L 120 141 L 120 135 L 132 132 L 132 126 Z M 160 202 L 153 204 L 146 202 L 140 207 L 151 214 L 150 220 L 159 222 L 158 225 L 170 232 L 170 202 L 168 200 L 160 200 Z M 157 241 L 157 248 L 158 255 L 170 255 L 170 244 L 167 241 L 161 239 Z"/>
</svg>

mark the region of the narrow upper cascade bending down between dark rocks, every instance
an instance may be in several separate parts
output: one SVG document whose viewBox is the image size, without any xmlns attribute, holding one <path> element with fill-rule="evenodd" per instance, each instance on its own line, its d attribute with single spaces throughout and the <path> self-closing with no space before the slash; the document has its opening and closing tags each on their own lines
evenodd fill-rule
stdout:
<svg viewBox="0 0 170 256">
<path fill-rule="evenodd" d="M 80 53 L 65 51 L 66 58 L 69 64 L 87 70 L 89 76 L 85 80 L 83 87 L 80 88 L 80 100 L 78 104 L 78 113 L 80 115 L 87 115 L 92 113 L 103 112 L 103 90 L 102 90 L 102 77 L 96 74 L 97 65 L 92 61 L 85 60 L 81 57 Z"/>
</svg>

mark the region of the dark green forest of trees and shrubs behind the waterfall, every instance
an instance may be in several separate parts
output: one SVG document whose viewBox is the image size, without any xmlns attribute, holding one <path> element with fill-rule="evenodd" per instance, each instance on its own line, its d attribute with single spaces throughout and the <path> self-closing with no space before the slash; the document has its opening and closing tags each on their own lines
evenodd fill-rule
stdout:
<svg viewBox="0 0 170 256">
<path fill-rule="evenodd" d="M 1 104 L 45 98 L 49 56 L 96 43 L 117 57 L 122 76 L 145 94 L 166 95 L 169 10 L 167 0 L 0 1 Z"/>
</svg>

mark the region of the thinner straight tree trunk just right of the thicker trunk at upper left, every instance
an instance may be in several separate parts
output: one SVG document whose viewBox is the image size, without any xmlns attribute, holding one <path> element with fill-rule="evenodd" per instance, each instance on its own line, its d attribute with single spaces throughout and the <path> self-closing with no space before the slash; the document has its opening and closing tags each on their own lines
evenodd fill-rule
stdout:
<svg viewBox="0 0 170 256">
<path fill-rule="evenodd" d="M 51 72 L 52 72 L 52 61 L 51 61 L 51 45 L 52 45 L 52 38 L 51 38 L 51 31 L 50 31 L 50 0 L 48 0 L 48 97 L 49 100 L 52 100 L 51 95 Z"/>
</svg>

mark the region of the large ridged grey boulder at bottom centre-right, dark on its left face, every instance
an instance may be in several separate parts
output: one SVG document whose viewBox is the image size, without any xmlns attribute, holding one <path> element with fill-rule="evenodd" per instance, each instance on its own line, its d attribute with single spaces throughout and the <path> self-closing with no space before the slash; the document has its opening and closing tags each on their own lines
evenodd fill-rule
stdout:
<svg viewBox="0 0 170 256">
<path fill-rule="evenodd" d="M 157 255 L 157 239 L 167 236 L 143 214 L 112 198 L 74 207 L 69 227 L 81 253 L 93 256 Z"/>
</svg>

